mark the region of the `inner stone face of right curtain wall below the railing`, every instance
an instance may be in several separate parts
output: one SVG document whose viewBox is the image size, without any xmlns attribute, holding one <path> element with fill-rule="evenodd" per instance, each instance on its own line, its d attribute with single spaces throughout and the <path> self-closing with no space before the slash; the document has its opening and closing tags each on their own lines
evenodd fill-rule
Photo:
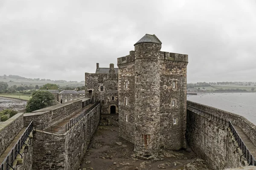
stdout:
<svg viewBox="0 0 256 170">
<path fill-rule="evenodd" d="M 197 103 L 189 101 L 187 103 L 197 107 Z M 200 109 L 205 110 L 207 108 L 201 105 Z M 217 111 L 221 110 L 216 109 L 215 112 Z M 230 136 L 227 126 L 223 127 L 204 116 L 187 110 L 187 142 L 191 149 L 204 159 L 212 169 L 223 170 L 243 166 L 240 161 L 242 154 L 236 152 L 236 146 Z"/>
</svg>

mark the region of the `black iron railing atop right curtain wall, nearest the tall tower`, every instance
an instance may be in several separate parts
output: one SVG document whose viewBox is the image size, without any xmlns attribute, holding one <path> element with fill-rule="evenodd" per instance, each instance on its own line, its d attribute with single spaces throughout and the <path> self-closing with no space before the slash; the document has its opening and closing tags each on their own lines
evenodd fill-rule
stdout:
<svg viewBox="0 0 256 170">
<path fill-rule="evenodd" d="M 187 110 L 192 111 L 194 113 L 198 113 L 198 114 L 210 119 L 211 121 L 216 122 L 219 125 L 222 125 L 223 127 L 228 126 L 228 119 L 224 119 L 220 116 L 209 113 L 207 111 L 203 111 L 201 109 L 195 108 L 195 107 L 190 106 L 190 105 L 187 105 Z"/>
</svg>

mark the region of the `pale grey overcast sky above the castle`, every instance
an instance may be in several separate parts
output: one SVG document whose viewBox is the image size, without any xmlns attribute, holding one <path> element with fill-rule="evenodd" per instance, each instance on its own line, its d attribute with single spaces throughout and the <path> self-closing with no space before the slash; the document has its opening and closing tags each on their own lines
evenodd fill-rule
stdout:
<svg viewBox="0 0 256 170">
<path fill-rule="evenodd" d="M 188 82 L 256 81 L 255 0 L 0 0 L 0 75 L 81 81 L 145 34 Z"/>
</svg>

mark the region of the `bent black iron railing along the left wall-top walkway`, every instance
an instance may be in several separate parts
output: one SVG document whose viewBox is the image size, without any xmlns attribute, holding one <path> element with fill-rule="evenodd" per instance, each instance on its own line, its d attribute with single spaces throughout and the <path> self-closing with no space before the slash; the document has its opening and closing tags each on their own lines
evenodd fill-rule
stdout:
<svg viewBox="0 0 256 170">
<path fill-rule="evenodd" d="M 79 115 L 74 117 L 73 119 L 70 119 L 70 121 L 67 122 L 63 126 L 47 125 L 44 122 L 35 122 L 35 126 L 38 130 L 41 130 L 41 131 L 44 131 L 44 132 L 63 135 L 67 131 L 71 130 L 71 127 L 73 127 L 73 126 L 76 127 L 76 124 L 79 123 L 81 120 L 84 120 L 85 116 L 87 116 L 88 113 L 99 104 L 100 104 L 100 101 L 94 103 L 90 108 L 83 111 L 82 113 L 80 113 Z"/>
</svg>

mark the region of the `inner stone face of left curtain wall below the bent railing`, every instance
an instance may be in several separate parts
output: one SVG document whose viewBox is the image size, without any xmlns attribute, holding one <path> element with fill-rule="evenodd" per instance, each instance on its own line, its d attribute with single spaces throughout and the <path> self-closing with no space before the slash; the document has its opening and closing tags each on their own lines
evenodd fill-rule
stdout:
<svg viewBox="0 0 256 170">
<path fill-rule="evenodd" d="M 33 170 L 76 170 L 100 119 L 100 104 L 64 135 L 39 130 L 34 134 Z"/>
</svg>

